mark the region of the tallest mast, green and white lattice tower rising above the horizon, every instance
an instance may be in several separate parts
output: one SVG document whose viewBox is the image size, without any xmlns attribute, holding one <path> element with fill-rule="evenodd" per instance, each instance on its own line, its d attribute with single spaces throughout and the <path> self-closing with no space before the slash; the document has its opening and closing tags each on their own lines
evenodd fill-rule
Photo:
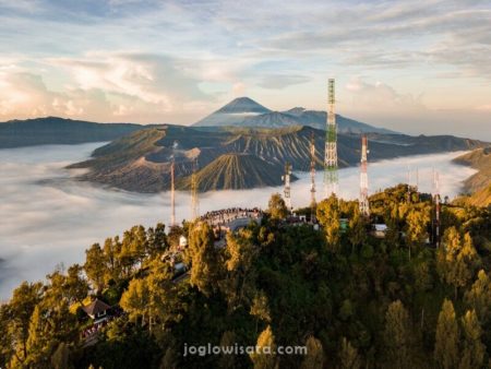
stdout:
<svg viewBox="0 0 491 369">
<path fill-rule="evenodd" d="M 334 94 L 334 79 L 328 80 L 327 86 L 327 127 L 325 133 L 325 154 L 324 154 L 324 186 L 326 197 L 337 192 L 337 129 L 336 114 L 334 104 L 336 102 Z"/>
</svg>

